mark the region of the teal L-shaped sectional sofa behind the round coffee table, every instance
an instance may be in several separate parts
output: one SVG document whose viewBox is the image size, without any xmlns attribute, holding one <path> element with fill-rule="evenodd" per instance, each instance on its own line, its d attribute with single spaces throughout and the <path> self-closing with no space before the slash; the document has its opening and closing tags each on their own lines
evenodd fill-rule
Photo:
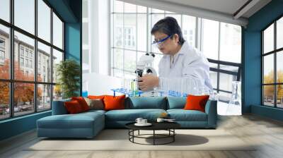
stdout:
<svg viewBox="0 0 283 158">
<path fill-rule="evenodd" d="M 104 128 L 125 128 L 141 117 L 155 121 L 166 112 L 181 128 L 216 128 L 217 102 L 207 101 L 205 112 L 184 110 L 186 97 L 127 97 L 125 109 L 90 110 L 67 114 L 64 102 L 54 101 L 52 116 L 37 120 L 37 136 L 48 138 L 93 138 Z"/>
</svg>

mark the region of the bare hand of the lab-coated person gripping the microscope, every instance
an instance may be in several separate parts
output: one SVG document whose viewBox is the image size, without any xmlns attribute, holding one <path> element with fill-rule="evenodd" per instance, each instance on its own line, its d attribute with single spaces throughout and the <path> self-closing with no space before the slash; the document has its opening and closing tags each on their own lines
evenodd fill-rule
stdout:
<svg viewBox="0 0 283 158">
<path fill-rule="evenodd" d="M 156 75 L 144 75 L 139 78 L 138 84 L 142 91 L 151 90 L 154 87 L 158 87 L 159 78 Z"/>
</svg>

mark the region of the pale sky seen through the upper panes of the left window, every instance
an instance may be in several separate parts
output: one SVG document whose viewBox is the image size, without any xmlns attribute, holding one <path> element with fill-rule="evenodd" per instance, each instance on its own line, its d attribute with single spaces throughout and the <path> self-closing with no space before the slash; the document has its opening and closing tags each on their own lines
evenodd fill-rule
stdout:
<svg viewBox="0 0 283 158">
<path fill-rule="evenodd" d="M 15 25 L 23 30 L 26 30 L 32 34 L 35 32 L 35 10 L 32 9 L 35 7 L 34 0 L 14 0 L 14 22 Z M 38 1 L 38 36 L 42 39 L 47 40 L 50 42 L 50 8 L 42 1 Z M 0 18 L 3 20 L 9 21 L 9 0 L 0 0 Z M 59 48 L 62 48 L 62 22 L 57 18 L 54 17 L 54 37 L 53 42 Z M 0 28 L 4 28 L 0 25 Z M 27 42 L 30 45 L 34 45 L 34 40 L 30 39 L 30 37 L 26 37 L 19 32 L 15 32 L 18 39 Z"/>
</svg>

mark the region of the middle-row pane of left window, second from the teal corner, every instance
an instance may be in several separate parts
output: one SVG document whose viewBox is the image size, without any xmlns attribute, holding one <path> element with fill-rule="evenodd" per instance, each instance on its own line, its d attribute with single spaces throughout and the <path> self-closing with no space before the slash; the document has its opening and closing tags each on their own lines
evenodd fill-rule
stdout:
<svg viewBox="0 0 283 158">
<path fill-rule="evenodd" d="M 37 42 L 37 81 L 51 83 L 51 49 Z"/>
</svg>

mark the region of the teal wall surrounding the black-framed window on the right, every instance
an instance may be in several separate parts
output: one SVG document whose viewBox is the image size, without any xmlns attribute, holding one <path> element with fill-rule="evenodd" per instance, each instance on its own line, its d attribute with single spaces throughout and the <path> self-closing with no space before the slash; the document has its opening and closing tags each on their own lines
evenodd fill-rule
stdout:
<svg viewBox="0 0 283 158">
<path fill-rule="evenodd" d="M 244 91 L 243 96 L 243 112 L 252 112 L 262 116 L 268 116 L 272 119 L 277 113 L 274 109 L 270 110 L 267 107 L 260 106 L 261 104 L 261 30 L 267 27 L 272 21 L 283 15 L 283 1 L 273 0 L 257 13 L 251 16 L 248 20 L 248 27 L 244 30 L 243 44 L 244 51 Z M 251 108 L 253 105 L 253 108 Z M 258 106 L 258 107 L 254 107 Z M 251 110 L 252 109 L 252 110 Z M 268 113 L 268 114 L 267 114 Z M 273 115 L 275 114 L 275 115 Z M 283 117 L 283 113 L 281 115 Z"/>
</svg>

